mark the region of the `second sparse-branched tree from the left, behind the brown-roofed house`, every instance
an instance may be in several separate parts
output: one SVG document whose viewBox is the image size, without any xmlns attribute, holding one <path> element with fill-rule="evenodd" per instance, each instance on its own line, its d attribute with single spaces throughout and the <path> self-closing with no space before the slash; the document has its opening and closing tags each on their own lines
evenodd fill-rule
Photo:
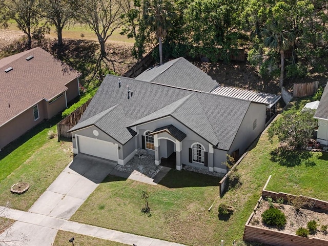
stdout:
<svg viewBox="0 0 328 246">
<path fill-rule="evenodd" d="M 63 29 L 75 18 L 77 0 L 40 0 L 38 14 L 56 28 L 57 44 L 63 45 Z"/>
</svg>

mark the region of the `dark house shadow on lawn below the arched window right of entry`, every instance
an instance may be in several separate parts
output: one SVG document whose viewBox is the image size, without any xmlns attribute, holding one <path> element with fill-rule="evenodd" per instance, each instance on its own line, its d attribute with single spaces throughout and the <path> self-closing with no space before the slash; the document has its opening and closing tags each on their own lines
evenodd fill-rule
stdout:
<svg viewBox="0 0 328 246">
<path fill-rule="evenodd" d="M 167 188 L 184 188 L 184 187 L 210 187 L 218 186 L 221 178 L 181 170 L 171 169 L 170 172 L 159 181 L 159 185 Z"/>
</svg>

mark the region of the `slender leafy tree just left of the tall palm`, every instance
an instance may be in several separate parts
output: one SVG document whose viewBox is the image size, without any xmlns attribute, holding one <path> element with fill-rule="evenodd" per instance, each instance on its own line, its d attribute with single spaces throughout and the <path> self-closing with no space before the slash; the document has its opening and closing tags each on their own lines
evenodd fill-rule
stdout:
<svg viewBox="0 0 328 246">
<path fill-rule="evenodd" d="M 149 39 L 149 29 L 145 24 L 145 0 L 121 0 L 123 28 L 121 34 L 134 38 L 132 54 L 141 59 Z"/>
</svg>

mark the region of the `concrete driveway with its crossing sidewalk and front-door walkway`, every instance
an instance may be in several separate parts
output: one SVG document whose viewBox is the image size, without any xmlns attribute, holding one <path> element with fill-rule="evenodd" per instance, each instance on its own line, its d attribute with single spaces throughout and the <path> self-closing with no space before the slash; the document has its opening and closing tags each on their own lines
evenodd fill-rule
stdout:
<svg viewBox="0 0 328 246">
<path fill-rule="evenodd" d="M 6 213 L 0 214 L 16 220 L 0 235 L 0 240 L 12 241 L 8 245 L 15 246 L 51 246 L 57 231 L 63 230 L 138 246 L 181 245 L 68 221 L 108 174 L 157 185 L 148 177 L 117 172 L 116 165 L 115 162 L 88 155 L 75 156 L 28 212 L 6 209 Z M 164 169 L 159 173 L 156 181 L 168 171 Z"/>
</svg>

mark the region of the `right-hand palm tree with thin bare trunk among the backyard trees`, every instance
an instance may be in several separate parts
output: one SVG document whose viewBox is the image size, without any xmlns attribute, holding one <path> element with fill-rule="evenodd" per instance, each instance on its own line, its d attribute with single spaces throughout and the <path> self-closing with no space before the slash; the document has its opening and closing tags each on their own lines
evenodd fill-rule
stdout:
<svg viewBox="0 0 328 246">
<path fill-rule="evenodd" d="M 264 38 L 264 45 L 270 49 L 274 49 L 280 53 L 280 79 L 279 86 L 283 86 L 283 71 L 284 71 L 284 51 L 288 50 L 294 45 L 296 40 L 295 30 L 286 31 L 285 26 L 282 22 L 274 21 L 272 22 L 268 29 L 262 30 L 262 35 Z"/>
</svg>

